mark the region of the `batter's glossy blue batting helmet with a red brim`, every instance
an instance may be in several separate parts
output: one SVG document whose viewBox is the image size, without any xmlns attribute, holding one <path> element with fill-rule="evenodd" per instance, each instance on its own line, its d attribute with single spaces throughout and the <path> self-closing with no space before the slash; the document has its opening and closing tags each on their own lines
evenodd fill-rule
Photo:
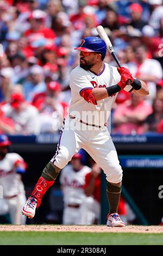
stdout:
<svg viewBox="0 0 163 256">
<path fill-rule="evenodd" d="M 98 38 L 97 36 L 89 36 L 82 40 L 79 47 L 74 48 L 74 50 L 79 50 L 83 52 L 100 52 L 105 58 L 106 55 L 106 44 L 104 40 Z"/>
</svg>

